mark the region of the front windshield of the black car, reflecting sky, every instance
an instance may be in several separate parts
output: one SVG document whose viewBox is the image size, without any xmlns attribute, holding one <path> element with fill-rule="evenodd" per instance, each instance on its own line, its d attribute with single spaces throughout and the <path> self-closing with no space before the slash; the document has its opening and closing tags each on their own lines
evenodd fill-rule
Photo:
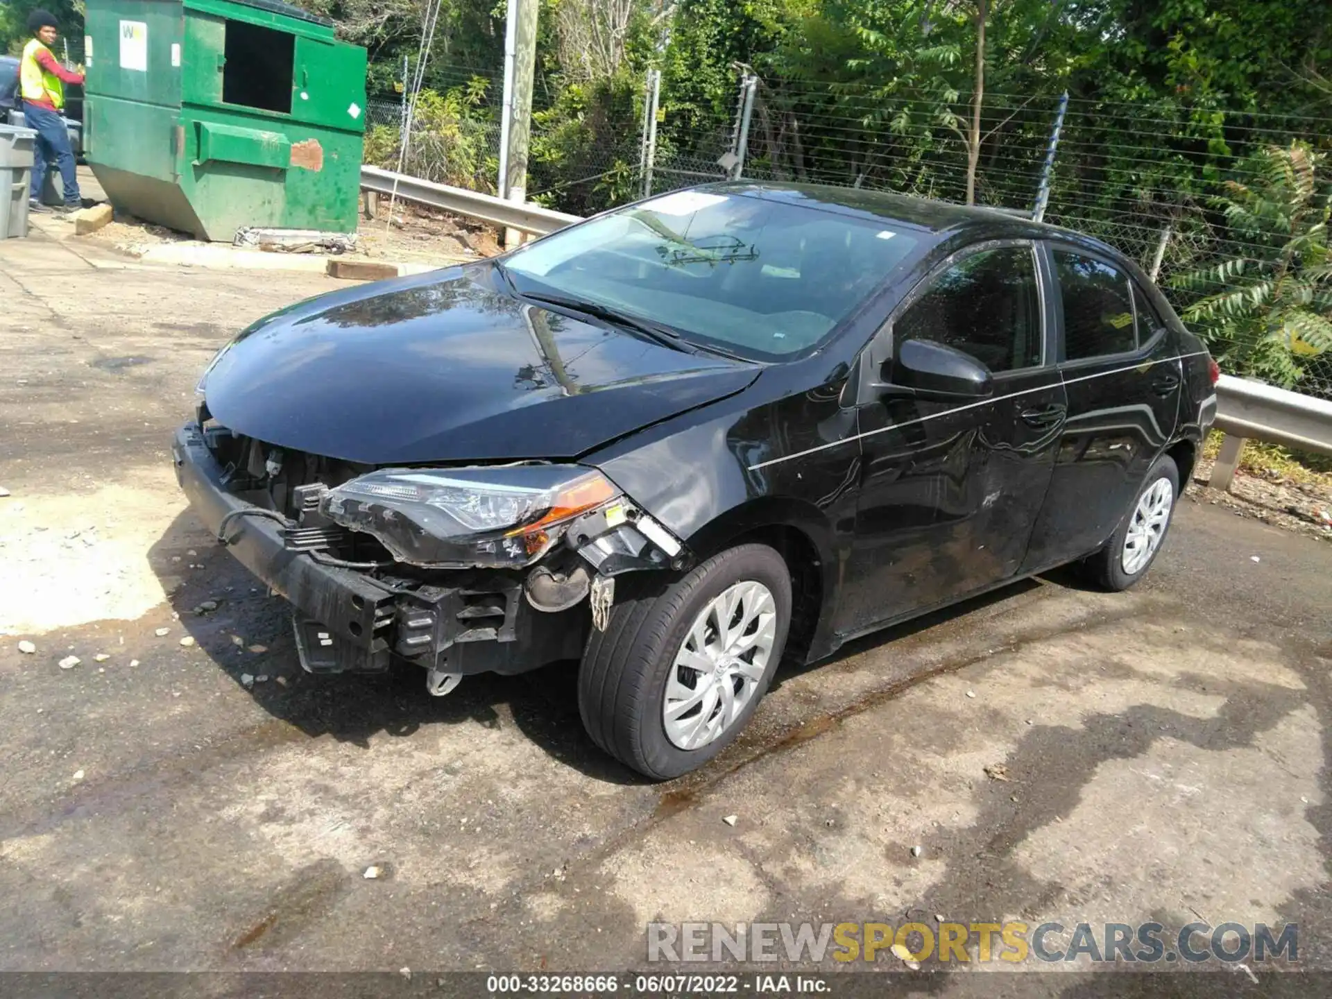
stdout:
<svg viewBox="0 0 1332 999">
<path fill-rule="evenodd" d="M 557 232 L 505 260 L 557 293 L 779 360 L 817 346 L 916 240 L 879 218 L 679 190 Z"/>
</svg>

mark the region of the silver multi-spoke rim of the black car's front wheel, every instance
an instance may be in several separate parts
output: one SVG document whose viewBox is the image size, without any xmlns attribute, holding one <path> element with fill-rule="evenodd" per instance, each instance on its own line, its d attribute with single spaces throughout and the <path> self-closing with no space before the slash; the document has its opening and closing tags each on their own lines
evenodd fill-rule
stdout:
<svg viewBox="0 0 1332 999">
<path fill-rule="evenodd" d="M 775 637 L 777 603 L 763 583 L 745 579 L 709 601 L 666 677 L 666 738 L 697 750 L 727 731 L 754 699 Z"/>
</svg>

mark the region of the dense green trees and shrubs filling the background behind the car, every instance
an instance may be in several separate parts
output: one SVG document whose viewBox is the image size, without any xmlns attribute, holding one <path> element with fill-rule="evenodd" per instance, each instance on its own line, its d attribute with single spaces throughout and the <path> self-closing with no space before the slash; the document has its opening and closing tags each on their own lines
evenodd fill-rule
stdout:
<svg viewBox="0 0 1332 999">
<path fill-rule="evenodd" d="M 37 1 L 0 7 L 0 41 Z M 364 44 L 372 99 L 396 100 L 430 0 L 296 1 Z M 81 37 L 81 0 L 41 3 Z M 493 190 L 503 17 L 440 0 L 410 172 Z M 1030 209 L 1067 93 L 1047 220 L 1163 257 L 1227 370 L 1332 393 L 1327 0 L 541 0 L 533 197 L 587 213 L 642 192 L 649 68 L 657 189 L 721 176 L 753 73 L 746 176 Z M 397 144 L 373 127 L 366 157 L 394 165 Z"/>
</svg>

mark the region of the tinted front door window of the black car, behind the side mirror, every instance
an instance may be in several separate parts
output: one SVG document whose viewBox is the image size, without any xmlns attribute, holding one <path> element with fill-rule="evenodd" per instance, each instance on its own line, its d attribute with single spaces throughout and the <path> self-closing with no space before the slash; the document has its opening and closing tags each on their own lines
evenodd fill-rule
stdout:
<svg viewBox="0 0 1332 999">
<path fill-rule="evenodd" d="M 934 340 L 990 368 L 1040 364 L 1040 294 L 1031 249 L 972 253 L 936 277 L 894 324 L 894 340 Z"/>
</svg>

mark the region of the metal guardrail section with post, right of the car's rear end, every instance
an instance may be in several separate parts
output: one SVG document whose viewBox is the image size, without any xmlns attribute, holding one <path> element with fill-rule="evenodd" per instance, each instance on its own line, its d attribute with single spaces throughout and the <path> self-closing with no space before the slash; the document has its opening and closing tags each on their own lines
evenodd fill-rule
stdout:
<svg viewBox="0 0 1332 999">
<path fill-rule="evenodd" d="M 1332 402 L 1223 374 L 1216 385 L 1216 424 L 1225 432 L 1211 485 L 1229 489 L 1245 440 L 1332 454 Z"/>
</svg>

